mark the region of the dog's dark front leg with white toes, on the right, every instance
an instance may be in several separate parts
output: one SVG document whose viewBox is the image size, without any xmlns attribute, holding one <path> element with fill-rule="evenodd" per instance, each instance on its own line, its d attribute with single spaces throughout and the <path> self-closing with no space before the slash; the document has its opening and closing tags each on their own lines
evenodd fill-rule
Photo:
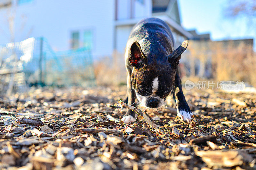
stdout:
<svg viewBox="0 0 256 170">
<path fill-rule="evenodd" d="M 193 113 L 191 112 L 183 94 L 181 80 L 178 72 L 176 72 L 175 75 L 173 90 L 175 92 L 174 94 L 178 116 L 181 118 L 182 121 L 187 121 L 189 123 L 193 119 Z"/>
</svg>

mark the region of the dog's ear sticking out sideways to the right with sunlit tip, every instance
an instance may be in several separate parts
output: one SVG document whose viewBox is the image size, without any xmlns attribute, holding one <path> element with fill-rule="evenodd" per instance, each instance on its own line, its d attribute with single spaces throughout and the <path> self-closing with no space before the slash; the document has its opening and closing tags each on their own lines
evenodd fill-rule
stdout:
<svg viewBox="0 0 256 170">
<path fill-rule="evenodd" d="M 182 44 L 176 48 L 171 55 L 168 56 L 169 63 L 172 64 L 173 67 L 176 67 L 180 63 L 181 54 L 187 49 L 188 40 L 182 42 Z"/>
</svg>

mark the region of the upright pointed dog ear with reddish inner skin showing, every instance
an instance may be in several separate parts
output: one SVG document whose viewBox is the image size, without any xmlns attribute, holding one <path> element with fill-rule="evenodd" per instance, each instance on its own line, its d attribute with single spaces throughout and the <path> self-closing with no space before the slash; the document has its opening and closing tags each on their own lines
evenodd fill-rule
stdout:
<svg viewBox="0 0 256 170">
<path fill-rule="evenodd" d="M 147 65 L 147 57 L 140 48 L 140 44 L 135 41 L 130 49 L 129 63 L 134 67 L 144 67 Z"/>
</svg>

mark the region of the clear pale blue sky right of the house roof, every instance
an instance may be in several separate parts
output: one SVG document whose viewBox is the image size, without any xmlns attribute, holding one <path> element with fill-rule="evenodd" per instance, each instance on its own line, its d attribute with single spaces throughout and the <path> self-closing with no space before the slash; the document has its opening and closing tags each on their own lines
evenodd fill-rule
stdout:
<svg viewBox="0 0 256 170">
<path fill-rule="evenodd" d="M 212 40 L 255 39 L 256 29 L 253 28 L 255 23 L 250 24 L 250 20 L 242 16 L 227 17 L 225 9 L 228 3 L 231 1 L 179 0 L 182 26 L 188 30 L 196 29 L 198 33 L 210 32 Z"/>
</svg>

